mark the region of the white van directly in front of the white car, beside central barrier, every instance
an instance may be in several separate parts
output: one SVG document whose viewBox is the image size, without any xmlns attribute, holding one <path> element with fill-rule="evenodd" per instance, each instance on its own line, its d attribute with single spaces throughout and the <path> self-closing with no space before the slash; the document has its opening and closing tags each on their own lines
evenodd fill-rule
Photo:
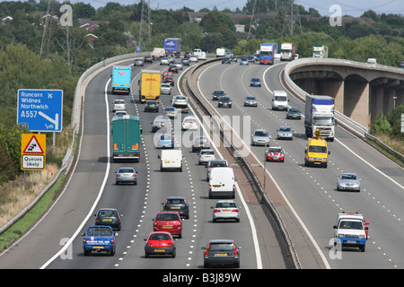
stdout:
<svg viewBox="0 0 404 287">
<path fill-rule="evenodd" d="M 213 168 L 210 171 L 209 198 L 213 196 L 234 198 L 236 180 L 232 168 Z"/>
</svg>

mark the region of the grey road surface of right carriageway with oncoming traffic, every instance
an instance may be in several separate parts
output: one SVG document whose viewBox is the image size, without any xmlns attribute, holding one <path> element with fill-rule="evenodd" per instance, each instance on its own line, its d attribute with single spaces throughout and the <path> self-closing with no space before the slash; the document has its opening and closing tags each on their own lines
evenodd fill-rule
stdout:
<svg viewBox="0 0 404 287">
<path fill-rule="evenodd" d="M 201 93 L 211 100 L 214 89 L 224 90 L 233 99 L 232 109 L 217 109 L 227 120 L 250 122 L 250 131 L 240 128 L 239 136 L 250 143 L 250 134 L 255 128 L 265 128 L 271 135 L 271 145 L 285 150 L 285 162 L 268 162 L 268 176 L 275 178 L 287 200 L 299 214 L 304 226 L 310 231 L 315 244 L 327 258 L 330 268 L 403 268 L 404 239 L 404 172 L 394 162 L 366 145 L 355 135 L 337 126 L 336 140 L 329 143 L 329 168 L 304 167 L 303 151 L 306 144 L 303 119 L 285 119 L 285 111 L 271 109 L 272 91 L 285 90 L 279 74 L 285 63 L 263 65 L 221 65 L 207 68 L 199 79 Z M 259 77 L 265 84 L 250 87 L 250 79 Z M 255 95 L 259 107 L 243 107 L 246 95 Z M 300 100 L 289 94 L 291 107 L 304 110 Z M 237 126 L 231 122 L 232 126 Z M 293 141 L 277 140 L 279 126 L 294 129 Z M 244 134 L 245 133 L 245 134 Z M 250 147 L 257 158 L 262 159 L 262 147 Z M 338 192 L 337 177 L 340 172 L 356 172 L 362 178 L 360 193 Z M 364 214 L 369 225 L 366 251 L 357 248 L 342 248 L 334 252 L 330 239 L 337 214 L 354 211 Z"/>
</svg>

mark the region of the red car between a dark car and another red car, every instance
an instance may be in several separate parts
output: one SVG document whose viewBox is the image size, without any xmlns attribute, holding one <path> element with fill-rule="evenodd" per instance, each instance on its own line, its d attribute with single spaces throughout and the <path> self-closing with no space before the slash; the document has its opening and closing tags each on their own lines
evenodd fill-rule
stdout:
<svg viewBox="0 0 404 287">
<path fill-rule="evenodd" d="M 177 212 L 160 212 L 155 215 L 153 224 L 154 231 L 166 231 L 171 235 L 182 238 L 182 221 L 180 213 Z"/>
</svg>

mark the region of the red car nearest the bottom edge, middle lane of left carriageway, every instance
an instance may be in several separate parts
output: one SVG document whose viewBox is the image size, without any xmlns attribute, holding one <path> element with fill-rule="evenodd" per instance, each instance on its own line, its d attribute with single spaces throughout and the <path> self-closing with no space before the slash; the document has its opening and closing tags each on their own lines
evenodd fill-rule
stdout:
<svg viewBox="0 0 404 287">
<path fill-rule="evenodd" d="M 149 237 L 145 239 L 145 241 L 146 258 L 150 257 L 151 255 L 171 255 L 171 257 L 175 258 L 176 246 L 170 232 L 152 232 L 150 233 Z"/>
</svg>

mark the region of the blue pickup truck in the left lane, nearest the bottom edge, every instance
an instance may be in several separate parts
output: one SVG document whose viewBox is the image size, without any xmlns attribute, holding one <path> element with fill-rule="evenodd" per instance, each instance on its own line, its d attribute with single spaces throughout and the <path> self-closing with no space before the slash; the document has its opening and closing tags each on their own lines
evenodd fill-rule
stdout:
<svg viewBox="0 0 404 287">
<path fill-rule="evenodd" d="M 110 256 L 115 255 L 116 242 L 114 233 L 110 226 L 91 225 L 82 233 L 84 256 L 89 256 L 94 252 L 107 252 Z"/>
</svg>

